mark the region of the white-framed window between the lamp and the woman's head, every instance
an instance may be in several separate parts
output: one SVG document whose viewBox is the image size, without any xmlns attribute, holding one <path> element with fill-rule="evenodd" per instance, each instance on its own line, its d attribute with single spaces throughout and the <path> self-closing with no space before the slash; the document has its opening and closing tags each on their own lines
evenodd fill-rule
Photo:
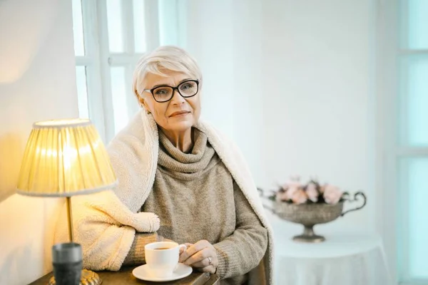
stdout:
<svg viewBox="0 0 428 285">
<path fill-rule="evenodd" d="M 73 0 L 78 111 L 109 142 L 138 111 L 133 69 L 146 51 L 178 44 L 178 0 Z"/>
</svg>

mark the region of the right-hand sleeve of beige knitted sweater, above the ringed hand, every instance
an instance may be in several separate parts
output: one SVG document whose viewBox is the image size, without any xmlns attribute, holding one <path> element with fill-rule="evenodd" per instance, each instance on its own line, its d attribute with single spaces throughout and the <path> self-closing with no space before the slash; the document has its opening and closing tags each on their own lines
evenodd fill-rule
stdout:
<svg viewBox="0 0 428 285">
<path fill-rule="evenodd" d="M 217 251 L 217 274 L 221 279 L 240 276 L 258 266 L 267 249 L 267 229 L 263 227 L 238 185 L 233 182 L 236 229 L 214 244 Z"/>
</svg>

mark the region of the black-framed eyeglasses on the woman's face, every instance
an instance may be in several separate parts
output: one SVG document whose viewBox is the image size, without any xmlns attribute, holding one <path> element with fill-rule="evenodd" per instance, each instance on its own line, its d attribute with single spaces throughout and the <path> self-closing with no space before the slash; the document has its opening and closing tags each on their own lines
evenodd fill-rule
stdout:
<svg viewBox="0 0 428 285">
<path fill-rule="evenodd" d="M 171 100 L 175 90 L 177 90 L 183 98 L 193 97 L 196 95 L 196 93 L 198 93 L 199 81 L 183 81 L 182 83 L 178 84 L 177 87 L 168 85 L 156 86 L 152 89 L 144 89 L 143 92 L 150 92 L 156 102 L 162 103 Z"/>
</svg>

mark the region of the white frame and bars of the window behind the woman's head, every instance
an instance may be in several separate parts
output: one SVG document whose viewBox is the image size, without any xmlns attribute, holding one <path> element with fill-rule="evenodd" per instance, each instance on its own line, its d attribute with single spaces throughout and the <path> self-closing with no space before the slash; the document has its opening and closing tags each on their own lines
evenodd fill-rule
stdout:
<svg viewBox="0 0 428 285">
<path fill-rule="evenodd" d="M 133 1 L 121 1 L 124 51 L 113 53 L 109 50 L 107 1 L 81 0 L 85 55 L 76 56 L 76 66 L 86 68 L 89 118 L 105 143 L 110 142 L 118 131 L 115 130 L 110 68 L 125 68 L 125 78 L 129 83 L 126 84 L 126 106 L 131 117 L 139 108 L 131 90 L 131 79 L 138 59 L 143 56 L 134 48 Z M 159 4 L 156 0 L 141 1 L 144 1 L 145 8 L 146 49 L 151 51 L 160 43 Z"/>
</svg>

